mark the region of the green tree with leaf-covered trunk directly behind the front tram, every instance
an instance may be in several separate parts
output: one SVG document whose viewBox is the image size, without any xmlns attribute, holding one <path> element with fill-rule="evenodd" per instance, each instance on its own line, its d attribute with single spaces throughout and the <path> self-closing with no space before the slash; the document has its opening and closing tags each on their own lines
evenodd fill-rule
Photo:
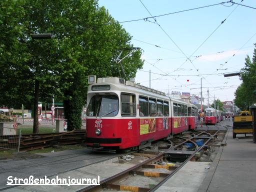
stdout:
<svg viewBox="0 0 256 192">
<path fill-rule="evenodd" d="M 68 12 L 67 15 L 63 15 L 69 18 L 65 20 L 72 21 L 68 23 L 72 26 L 72 30 L 68 31 L 72 39 L 71 43 L 68 43 L 69 40 L 63 43 L 63 46 L 67 46 L 64 49 L 71 55 L 63 62 L 65 71 L 62 75 L 64 111 L 68 130 L 81 127 L 82 106 L 85 104 L 87 92 L 87 75 L 119 76 L 115 62 L 118 50 L 132 47 L 131 36 L 120 24 L 116 23 L 104 7 L 91 6 L 91 10 L 88 10 L 89 6 L 82 6 L 83 3 L 84 1 L 80 1 L 71 8 L 77 10 L 74 13 L 77 22 L 69 18 Z M 92 11 L 94 14 L 87 15 L 87 12 Z M 77 28 L 85 32 L 79 32 Z M 77 36 L 76 39 L 72 37 L 74 35 Z M 142 67 L 143 62 L 140 56 L 141 51 L 138 50 L 123 60 L 122 64 L 127 78 L 135 77 L 137 69 Z"/>
</svg>

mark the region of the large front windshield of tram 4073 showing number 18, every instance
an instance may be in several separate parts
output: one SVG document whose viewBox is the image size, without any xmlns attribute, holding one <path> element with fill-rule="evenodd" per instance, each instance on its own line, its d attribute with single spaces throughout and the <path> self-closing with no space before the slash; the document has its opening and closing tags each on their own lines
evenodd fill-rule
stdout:
<svg viewBox="0 0 256 192">
<path fill-rule="evenodd" d="M 118 113 L 119 104 L 116 95 L 94 95 L 90 99 L 86 110 L 87 116 L 115 116 Z"/>
</svg>

